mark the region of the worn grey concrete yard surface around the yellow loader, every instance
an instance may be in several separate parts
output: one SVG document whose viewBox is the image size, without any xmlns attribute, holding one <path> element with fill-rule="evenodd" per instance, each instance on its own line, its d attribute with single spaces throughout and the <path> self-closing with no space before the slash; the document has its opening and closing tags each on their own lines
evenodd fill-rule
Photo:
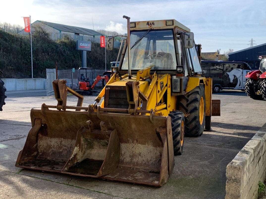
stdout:
<svg viewBox="0 0 266 199">
<path fill-rule="evenodd" d="M 211 132 L 185 137 L 183 154 L 162 187 L 143 186 L 15 167 L 31 129 L 30 110 L 41 104 L 56 105 L 46 91 L 7 92 L 0 112 L 0 198 L 224 198 L 226 166 L 265 123 L 265 101 L 253 100 L 245 92 L 223 90 L 221 116 L 212 117 Z M 95 96 L 84 96 L 83 106 Z M 68 105 L 77 98 L 68 96 Z"/>
</svg>

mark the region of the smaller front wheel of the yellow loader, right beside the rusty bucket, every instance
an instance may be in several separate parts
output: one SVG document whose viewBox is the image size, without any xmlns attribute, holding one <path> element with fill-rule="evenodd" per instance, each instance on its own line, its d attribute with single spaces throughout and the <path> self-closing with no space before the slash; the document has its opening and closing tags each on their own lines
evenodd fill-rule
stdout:
<svg viewBox="0 0 266 199">
<path fill-rule="evenodd" d="M 171 117 L 172 124 L 174 155 L 181 155 L 184 146 L 184 113 L 180 111 L 173 111 L 169 114 L 169 116 Z"/>
</svg>

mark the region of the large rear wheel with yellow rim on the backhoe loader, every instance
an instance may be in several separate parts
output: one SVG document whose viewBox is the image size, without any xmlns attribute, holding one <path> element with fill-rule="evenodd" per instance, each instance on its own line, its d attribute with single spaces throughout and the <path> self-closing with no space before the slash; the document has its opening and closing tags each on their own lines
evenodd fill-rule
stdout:
<svg viewBox="0 0 266 199">
<path fill-rule="evenodd" d="M 180 97 L 179 110 L 185 117 L 185 136 L 201 136 L 205 125 L 205 89 L 202 84 Z"/>
</svg>

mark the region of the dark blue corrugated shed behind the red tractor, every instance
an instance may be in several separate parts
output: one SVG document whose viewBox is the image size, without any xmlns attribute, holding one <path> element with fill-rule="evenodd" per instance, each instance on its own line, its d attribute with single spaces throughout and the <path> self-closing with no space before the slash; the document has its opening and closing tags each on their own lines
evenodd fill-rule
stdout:
<svg viewBox="0 0 266 199">
<path fill-rule="evenodd" d="M 259 56 L 266 55 L 266 43 L 229 53 L 229 61 L 241 61 L 248 63 L 252 69 L 259 68 Z"/>
</svg>

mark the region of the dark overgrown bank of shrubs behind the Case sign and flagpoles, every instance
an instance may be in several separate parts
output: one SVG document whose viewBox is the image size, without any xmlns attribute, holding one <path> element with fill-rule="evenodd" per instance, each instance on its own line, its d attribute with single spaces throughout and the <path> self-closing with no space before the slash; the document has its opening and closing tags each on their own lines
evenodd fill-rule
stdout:
<svg viewBox="0 0 266 199">
<path fill-rule="evenodd" d="M 41 29 L 32 34 L 33 76 L 45 78 L 46 68 L 58 69 L 81 67 L 81 51 L 76 50 L 76 41 L 69 37 L 53 41 Z M 106 51 L 107 68 L 116 60 L 118 49 Z M 105 68 L 105 49 L 92 42 L 92 51 L 87 52 L 87 67 Z M 0 70 L 2 78 L 31 77 L 30 37 L 10 34 L 0 29 Z"/>
</svg>

